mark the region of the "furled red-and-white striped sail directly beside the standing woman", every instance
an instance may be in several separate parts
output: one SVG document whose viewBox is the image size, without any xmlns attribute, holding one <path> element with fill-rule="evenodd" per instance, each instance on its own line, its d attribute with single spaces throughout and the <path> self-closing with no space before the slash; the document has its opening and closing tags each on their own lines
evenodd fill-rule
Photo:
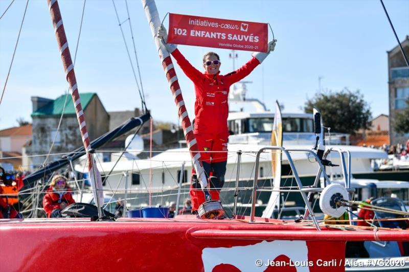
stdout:
<svg viewBox="0 0 409 272">
<path fill-rule="evenodd" d="M 159 13 L 157 12 L 154 0 L 142 0 L 142 6 L 144 7 L 146 18 L 148 19 L 149 27 L 152 32 L 153 39 L 155 41 L 157 53 L 162 61 L 162 66 L 165 71 L 166 78 L 170 86 L 173 98 L 177 106 L 177 114 L 179 116 L 180 123 L 185 134 L 186 143 L 189 147 L 190 155 L 193 161 L 193 167 L 196 170 L 196 174 L 199 177 L 199 182 L 202 190 L 207 187 L 207 177 L 201 162 L 199 161 L 200 152 L 196 143 L 195 136 L 193 134 L 192 124 L 190 122 L 188 111 L 185 107 L 185 101 L 180 90 L 179 82 L 176 76 L 175 69 L 173 67 L 172 59 L 166 48 L 161 47 L 161 44 L 157 38 L 157 30 L 161 26 L 161 20 Z M 206 193 L 206 191 L 205 191 Z"/>
</svg>

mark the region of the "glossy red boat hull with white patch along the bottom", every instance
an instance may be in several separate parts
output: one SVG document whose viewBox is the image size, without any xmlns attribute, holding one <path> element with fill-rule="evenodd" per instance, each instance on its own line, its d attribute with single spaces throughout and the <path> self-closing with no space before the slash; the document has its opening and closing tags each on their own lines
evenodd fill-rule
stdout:
<svg viewBox="0 0 409 272">
<path fill-rule="evenodd" d="M 258 220 L 2 220 L 0 270 L 344 271 L 345 241 L 374 237 Z M 399 235 L 409 240 L 408 231 Z"/>
</svg>

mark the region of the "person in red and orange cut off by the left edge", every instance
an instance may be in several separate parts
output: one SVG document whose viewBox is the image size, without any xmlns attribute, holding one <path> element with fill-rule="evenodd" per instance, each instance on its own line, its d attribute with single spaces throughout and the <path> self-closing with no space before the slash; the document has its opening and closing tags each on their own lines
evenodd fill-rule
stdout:
<svg viewBox="0 0 409 272">
<path fill-rule="evenodd" d="M 24 186 L 24 176 L 0 168 L 0 218 L 21 218 L 18 191 Z"/>
</svg>

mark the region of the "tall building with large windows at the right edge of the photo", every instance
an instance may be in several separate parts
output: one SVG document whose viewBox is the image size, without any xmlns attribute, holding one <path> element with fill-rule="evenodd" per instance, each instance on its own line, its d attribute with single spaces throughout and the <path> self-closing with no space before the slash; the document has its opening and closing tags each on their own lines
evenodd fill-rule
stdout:
<svg viewBox="0 0 409 272">
<path fill-rule="evenodd" d="M 409 36 L 401 42 L 403 51 L 409 58 Z M 394 131 L 393 125 L 396 112 L 402 111 L 407 105 L 405 100 L 409 98 L 409 67 L 403 58 L 399 44 L 388 51 L 388 74 L 389 74 L 389 139 L 391 145 L 404 144 L 409 134 L 401 135 Z"/>
</svg>

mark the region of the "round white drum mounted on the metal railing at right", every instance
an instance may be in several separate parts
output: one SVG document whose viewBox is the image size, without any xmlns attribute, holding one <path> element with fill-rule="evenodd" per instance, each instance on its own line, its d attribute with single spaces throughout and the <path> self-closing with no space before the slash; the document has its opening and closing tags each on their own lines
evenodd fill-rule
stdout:
<svg viewBox="0 0 409 272">
<path fill-rule="evenodd" d="M 332 217 L 342 216 L 347 207 L 336 205 L 340 199 L 349 200 L 347 189 L 340 184 L 330 184 L 324 188 L 320 196 L 320 208 L 323 213 Z"/>
</svg>

